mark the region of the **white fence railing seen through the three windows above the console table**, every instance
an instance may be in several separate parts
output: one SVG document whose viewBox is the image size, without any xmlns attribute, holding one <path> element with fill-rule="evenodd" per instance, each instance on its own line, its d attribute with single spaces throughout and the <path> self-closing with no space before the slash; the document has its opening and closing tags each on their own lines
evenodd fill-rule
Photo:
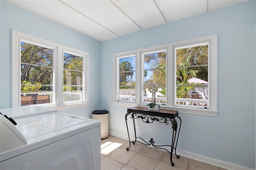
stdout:
<svg viewBox="0 0 256 170">
<path fill-rule="evenodd" d="M 133 101 L 135 102 L 136 97 L 134 95 L 119 95 L 119 101 Z M 144 102 L 151 102 L 152 97 L 144 96 Z M 157 104 L 166 104 L 165 97 L 156 97 Z M 181 99 L 176 98 L 176 104 L 178 105 L 203 105 L 208 106 L 208 100 L 206 99 Z"/>
</svg>

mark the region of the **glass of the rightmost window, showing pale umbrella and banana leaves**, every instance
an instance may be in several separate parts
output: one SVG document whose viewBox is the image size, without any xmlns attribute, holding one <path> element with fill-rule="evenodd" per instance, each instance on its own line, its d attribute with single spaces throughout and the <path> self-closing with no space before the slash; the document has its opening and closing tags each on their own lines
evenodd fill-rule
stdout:
<svg viewBox="0 0 256 170">
<path fill-rule="evenodd" d="M 176 105 L 209 105 L 209 43 L 175 48 Z"/>
</svg>

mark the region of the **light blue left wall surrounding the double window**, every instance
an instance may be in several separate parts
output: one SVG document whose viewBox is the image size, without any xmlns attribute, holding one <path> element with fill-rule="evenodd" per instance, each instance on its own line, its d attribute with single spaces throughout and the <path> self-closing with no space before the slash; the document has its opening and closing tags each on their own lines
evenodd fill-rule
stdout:
<svg viewBox="0 0 256 170">
<path fill-rule="evenodd" d="M 74 30 L 24 10 L 10 2 L 0 1 L 0 108 L 12 105 L 12 29 L 60 43 L 89 53 L 90 107 L 67 110 L 76 115 L 91 117 L 100 103 L 100 42 Z"/>
</svg>

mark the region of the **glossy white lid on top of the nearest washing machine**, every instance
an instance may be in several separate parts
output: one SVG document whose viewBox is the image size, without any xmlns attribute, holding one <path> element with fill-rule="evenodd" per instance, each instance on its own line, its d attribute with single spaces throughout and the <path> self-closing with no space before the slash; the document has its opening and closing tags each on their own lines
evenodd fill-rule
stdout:
<svg viewBox="0 0 256 170">
<path fill-rule="evenodd" d="M 27 138 L 47 137 L 62 133 L 64 129 L 72 129 L 87 121 L 64 113 L 53 113 L 23 119 L 16 119 L 17 128 Z M 48 134 L 48 135 L 47 135 Z"/>
</svg>

